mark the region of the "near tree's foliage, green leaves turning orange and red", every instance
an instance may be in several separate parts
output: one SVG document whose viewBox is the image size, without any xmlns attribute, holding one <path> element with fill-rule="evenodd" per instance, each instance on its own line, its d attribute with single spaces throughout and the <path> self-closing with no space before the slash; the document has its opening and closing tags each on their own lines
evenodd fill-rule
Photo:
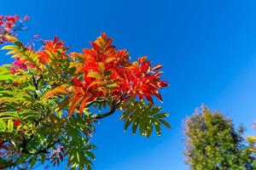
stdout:
<svg viewBox="0 0 256 170">
<path fill-rule="evenodd" d="M 3 167 L 26 169 L 38 161 L 58 165 L 67 159 L 67 167 L 91 169 L 95 122 L 116 111 L 125 129 L 132 124 L 136 133 L 140 125 L 148 138 L 154 129 L 160 135 L 162 125 L 170 127 L 152 98 L 162 101 L 159 89 L 167 86 L 160 80 L 162 65 L 152 66 L 146 56 L 131 62 L 105 33 L 83 53 L 69 52 L 58 37 L 37 50 L 8 32 L 0 36 L 9 42 L 2 49 L 15 59 L 0 66 Z"/>
</svg>

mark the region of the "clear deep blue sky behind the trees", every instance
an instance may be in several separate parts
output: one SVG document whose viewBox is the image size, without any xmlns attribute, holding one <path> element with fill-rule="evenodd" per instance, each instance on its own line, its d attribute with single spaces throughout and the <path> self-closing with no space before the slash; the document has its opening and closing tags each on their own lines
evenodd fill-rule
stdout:
<svg viewBox="0 0 256 170">
<path fill-rule="evenodd" d="M 28 14 L 25 39 L 57 35 L 81 51 L 102 31 L 131 56 L 164 64 L 163 111 L 172 130 L 144 139 L 119 115 L 96 126 L 96 170 L 186 170 L 183 119 L 204 103 L 243 123 L 256 119 L 256 2 L 206 0 L 3 1 L 1 14 Z M 9 62 L 2 56 L 0 64 Z M 41 168 L 41 167 L 38 167 Z M 58 168 L 56 168 L 58 169 Z M 63 169 L 63 167 L 59 167 Z"/>
</svg>

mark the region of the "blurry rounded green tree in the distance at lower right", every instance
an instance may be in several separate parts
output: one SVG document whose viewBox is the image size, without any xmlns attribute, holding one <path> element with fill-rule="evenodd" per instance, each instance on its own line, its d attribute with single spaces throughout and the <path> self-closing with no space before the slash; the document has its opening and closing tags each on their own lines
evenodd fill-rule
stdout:
<svg viewBox="0 0 256 170">
<path fill-rule="evenodd" d="M 187 163 L 193 170 L 253 170 L 255 157 L 230 118 L 202 106 L 185 120 Z"/>
</svg>

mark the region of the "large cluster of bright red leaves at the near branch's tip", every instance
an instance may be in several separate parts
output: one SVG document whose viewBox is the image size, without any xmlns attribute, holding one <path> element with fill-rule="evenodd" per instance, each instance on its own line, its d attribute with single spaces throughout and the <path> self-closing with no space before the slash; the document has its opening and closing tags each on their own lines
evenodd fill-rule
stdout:
<svg viewBox="0 0 256 170">
<path fill-rule="evenodd" d="M 72 54 L 80 58 L 83 64 L 76 64 L 77 73 L 83 72 L 83 77 L 73 77 L 75 106 L 94 100 L 121 100 L 139 97 L 154 103 L 152 96 L 162 101 L 159 88 L 167 86 L 160 80 L 162 65 L 151 66 L 146 56 L 131 63 L 129 53 L 125 50 L 116 50 L 111 45 L 112 39 L 105 33 L 90 42 L 92 48 L 84 48 L 84 54 Z M 122 99 L 122 100 L 125 100 Z M 82 112 L 84 107 L 80 109 Z M 71 110 L 73 111 L 73 110 Z"/>
</svg>

